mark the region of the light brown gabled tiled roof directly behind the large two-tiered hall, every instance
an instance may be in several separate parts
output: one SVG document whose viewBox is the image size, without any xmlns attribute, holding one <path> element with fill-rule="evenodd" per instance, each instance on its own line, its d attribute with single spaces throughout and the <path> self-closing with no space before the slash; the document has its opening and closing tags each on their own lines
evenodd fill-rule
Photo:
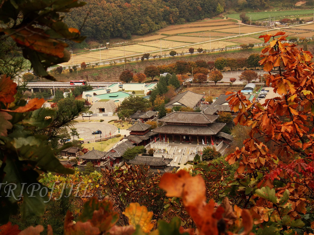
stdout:
<svg viewBox="0 0 314 235">
<path fill-rule="evenodd" d="M 165 105 L 165 108 L 172 108 L 174 106 L 178 106 L 173 105 L 173 103 L 176 102 L 184 105 L 185 107 L 194 108 L 198 104 L 198 102 L 203 98 L 203 96 L 204 95 L 202 94 L 197 94 L 187 90 L 186 92 L 178 94 L 174 98 L 172 98 L 170 102 Z"/>
</svg>

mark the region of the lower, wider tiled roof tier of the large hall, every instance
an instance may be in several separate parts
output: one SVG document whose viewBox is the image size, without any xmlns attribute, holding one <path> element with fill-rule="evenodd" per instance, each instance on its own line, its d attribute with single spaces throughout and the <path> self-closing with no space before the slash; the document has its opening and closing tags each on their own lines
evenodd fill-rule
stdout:
<svg viewBox="0 0 314 235">
<path fill-rule="evenodd" d="M 211 123 L 207 126 L 166 124 L 157 127 L 153 132 L 165 134 L 215 135 L 225 125 L 225 123 Z"/>
</svg>

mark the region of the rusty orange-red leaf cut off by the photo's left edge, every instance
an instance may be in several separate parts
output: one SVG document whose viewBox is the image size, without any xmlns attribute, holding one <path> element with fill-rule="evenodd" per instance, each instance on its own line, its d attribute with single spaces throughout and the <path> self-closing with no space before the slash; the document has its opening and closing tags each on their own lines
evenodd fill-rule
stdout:
<svg viewBox="0 0 314 235">
<path fill-rule="evenodd" d="M 14 102 L 14 95 L 17 92 L 16 86 L 10 77 L 0 79 L 0 102 L 7 104 Z"/>
</svg>

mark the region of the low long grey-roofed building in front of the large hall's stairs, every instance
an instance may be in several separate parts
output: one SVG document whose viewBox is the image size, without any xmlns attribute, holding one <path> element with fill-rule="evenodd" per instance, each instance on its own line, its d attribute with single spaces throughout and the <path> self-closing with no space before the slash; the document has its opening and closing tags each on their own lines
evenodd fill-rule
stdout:
<svg viewBox="0 0 314 235">
<path fill-rule="evenodd" d="M 128 163 L 132 165 L 139 166 L 149 166 L 149 171 L 152 173 L 158 173 L 158 170 L 161 174 L 166 172 L 172 172 L 174 168 L 178 169 L 179 167 L 167 166 L 172 161 L 172 158 L 164 157 L 152 157 L 152 156 L 136 156 L 134 159 L 129 160 Z"/>
</svg>

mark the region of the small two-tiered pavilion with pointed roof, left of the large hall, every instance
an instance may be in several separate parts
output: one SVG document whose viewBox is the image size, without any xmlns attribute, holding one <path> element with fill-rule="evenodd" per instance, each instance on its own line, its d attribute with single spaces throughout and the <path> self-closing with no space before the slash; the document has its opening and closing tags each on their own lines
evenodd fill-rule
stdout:
<svg viewBox="0 0 314 235">
<path fill-rule="evenodd" d="M 130 131 L 130 135 L 124 137 L 124 139 L 128 139 L 131 143 L 135 144 L 136 146 L 139 145 L 147 145 L 151 142 L 151 137 L 156 135 L 156 133 L 149 131 L 151 125 L 138 122 L 135 123 L 132 127 L 128 128 L 127 130 Z"/>
</svg>

